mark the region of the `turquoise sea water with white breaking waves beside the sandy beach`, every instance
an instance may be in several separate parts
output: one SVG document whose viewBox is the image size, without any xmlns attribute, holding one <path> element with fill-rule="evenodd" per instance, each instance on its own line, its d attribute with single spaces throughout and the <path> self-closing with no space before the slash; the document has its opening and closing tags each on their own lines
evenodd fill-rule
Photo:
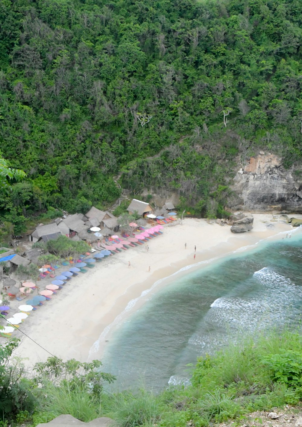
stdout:
<svg viewBox="0 0 302 427">
<path fill-rule="evenodd" d="M 297 321 L 302 308 L 301 232 L 188 272 L 150 295 L 115 331 L 102 361 L 120 388 L 188 381 L 188 363 L 245 331 Z M 176 276 L 177 277 L 177 276 Z"/>
</svg>

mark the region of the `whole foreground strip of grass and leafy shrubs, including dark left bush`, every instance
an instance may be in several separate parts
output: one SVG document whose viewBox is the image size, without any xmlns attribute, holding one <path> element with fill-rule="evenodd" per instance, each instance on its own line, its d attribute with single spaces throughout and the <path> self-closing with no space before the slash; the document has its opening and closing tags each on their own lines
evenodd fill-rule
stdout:
<svg viewBox="0 0 302 427">
<path fill-rule="evenodd" d="M 190 386 L 158 395 L 110 392 L 114 377 L 102 372 L 97 360 L 63 363 L 49 357 L 26 378 L 20 360 L 8 364 L 15 345 L 12 341 L 0 348 L 0 409 L 13 424 L 35 426 L 71 414 L 82 421 L 109 416 L 120 427 L 185 427 L 189 421 L 192 427 L 205 427 L 302 400 L 302 337 L 289 329 L 241 337 L 240 345 L 200 358 Z"/>
</svg>

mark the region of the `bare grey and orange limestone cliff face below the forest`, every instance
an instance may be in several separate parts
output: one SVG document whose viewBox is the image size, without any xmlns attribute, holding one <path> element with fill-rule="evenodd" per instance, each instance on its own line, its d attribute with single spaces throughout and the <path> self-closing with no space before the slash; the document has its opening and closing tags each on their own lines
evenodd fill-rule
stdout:
<svg viewBox="0 0 302 427">
<path fill-rule="evenodd" d="M 302 181 L 281 159 L 261 152 L 235 175 L 233 210 L 302 212 Z"/>
</svg>

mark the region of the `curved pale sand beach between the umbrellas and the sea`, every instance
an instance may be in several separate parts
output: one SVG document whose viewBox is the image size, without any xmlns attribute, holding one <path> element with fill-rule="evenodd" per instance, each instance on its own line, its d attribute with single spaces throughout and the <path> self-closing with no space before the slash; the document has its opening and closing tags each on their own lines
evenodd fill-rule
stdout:
<svg viewBox="0 0 302 427">
<path fill-rule="evenodd" d="M 209 224 L 205 219 L 187 218 L 182 225 L 178 223 L 164 226 L 164 234 L 148 243 L 149 252 L 145 245 L 137 246 L 97 262 L 93 269 L 84 274 L 79 273 L 53 295 L 50 301 L 32 311 L 20 325 L 20 329 L 63 360 L 75 358 L 87 361 L 101 358 L 109 326 L 111 325 L 112 333 L 118 322 L 143 304 L 144 299 L 139 299 L 125 316 L 121 316 L 129 301 L 138 298 L 156 281 L 172 275 L 182 267 L 196 264 L 193 268 L 201 268 L 201 265 L 208 265 L 202 261 L 217 259 L 237 249 L 254 245 L 259 240 L 276 236 L 282 231 L 292 230 L 290 224 L 270 222 L 271 219 L 270 214 L 254 214 L 253 230 L 241 234 L 232 234 L 229 226 Z M 57 274 L 60 271 L 63 270 L 57 270 Z M 41 289 L 49 283 L 46 280 L 45 284 L 44 281 L 39 283 Z M 163 281 L 152 292 L 166 283 L 169 280 Z M 17 312 L 18 305 L 22 304 L 15 303 L 18 301 L 11 304 L 10 315 Z M 16 307 L 15 310 L 13 306 Z M 96 342 L 101 334 L 98 345 Z M 21 338 L 16 354 L 28 358 L 26 365 L 33 366 L 50 356 L 20 331 L 14 333 L 14 336 Z"/>
</svg>

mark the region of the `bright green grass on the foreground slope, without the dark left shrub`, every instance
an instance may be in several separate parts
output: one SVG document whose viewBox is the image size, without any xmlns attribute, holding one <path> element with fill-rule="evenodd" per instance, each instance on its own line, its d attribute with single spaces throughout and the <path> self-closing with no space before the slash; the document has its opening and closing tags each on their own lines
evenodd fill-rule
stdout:
<svg viewBox="0 0 302 427">
<path fill-rule="evenodd" d="M 70 414 L 82 421 L 109 416 L 120 427 L 185 427 L 189 421 L 204 427 L 297 404 L 302 398 L 302 336 L 287 328 L 246 337 L 213 357 L 200 358 L 191 386 L 169 387 L 159 395 L 145 390 L 110 394 L 97 382 L 92 389 L 86 377 L 56 377 L 41 384 L 38 407 L 29 417 L 34 425 Z"/>
</svg>

